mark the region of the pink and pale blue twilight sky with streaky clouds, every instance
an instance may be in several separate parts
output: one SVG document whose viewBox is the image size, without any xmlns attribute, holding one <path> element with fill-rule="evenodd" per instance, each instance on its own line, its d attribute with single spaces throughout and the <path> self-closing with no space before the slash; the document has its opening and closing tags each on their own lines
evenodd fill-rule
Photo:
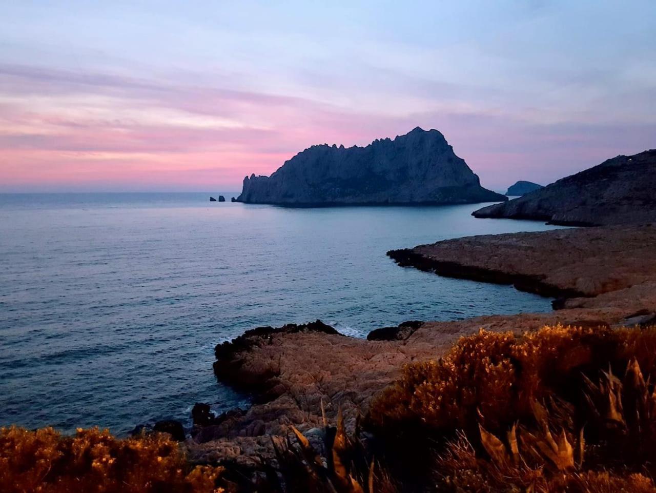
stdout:
<svg viewBox="0 0 656 493">
<path fill-rule="evenodd" d="M 438 129 L 483 186 L 656 148 L 653 0 L 3 2 L 0 192 L 239 191 Z"/>
</svg>

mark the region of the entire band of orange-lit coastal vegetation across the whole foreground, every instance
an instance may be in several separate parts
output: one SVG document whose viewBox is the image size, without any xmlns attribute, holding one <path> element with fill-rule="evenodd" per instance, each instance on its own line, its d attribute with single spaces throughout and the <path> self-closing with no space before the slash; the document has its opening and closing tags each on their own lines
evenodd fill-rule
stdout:
<svg viewBox="0 0 656 493">
<path fill-rule="evenodd" d="M 353 433 L 341 414 L 305 434 L 290 425 L 256 483 L 229 464 L 190 465 L 166 435 L 12 427 L 0 489 L 654 493 L 655 377 L 656 327 L 481 330 L 405 366 Z"/>
</svg>

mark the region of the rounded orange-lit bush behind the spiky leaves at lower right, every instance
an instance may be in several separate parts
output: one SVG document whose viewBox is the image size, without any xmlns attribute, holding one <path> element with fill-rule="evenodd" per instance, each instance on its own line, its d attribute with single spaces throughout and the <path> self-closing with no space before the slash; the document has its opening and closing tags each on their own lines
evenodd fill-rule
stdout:
<svg viewBox="0 0 656 493">
<path fill-rule="evenodd" d="M 578 389 L 571 375 L 579 379 L 581 371 L 607 368 L 620 339 L 607 328 L 544 327 L 522 336 L 481 330 L 438 361 L 406 366 L 373 402 L 369 417 L 374 425 L 415 421 L 444 431 L 477 429 L 479 415 L 485 427 L 512 425 L 531 414 L 533 400 Z"/>
</svg>

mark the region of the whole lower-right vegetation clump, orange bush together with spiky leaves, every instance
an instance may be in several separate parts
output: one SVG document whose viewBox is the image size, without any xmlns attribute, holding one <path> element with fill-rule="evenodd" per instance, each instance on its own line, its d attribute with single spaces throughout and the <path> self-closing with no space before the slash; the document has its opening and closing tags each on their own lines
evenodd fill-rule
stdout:
<svg viewBox="0 0 656 493">
<path fill-rule="evenodd" d="M 369 425 L 408 488 L 656 493 L 655 370 L 656 328 L 481 331 L 407 366 Z"/>
</svg>

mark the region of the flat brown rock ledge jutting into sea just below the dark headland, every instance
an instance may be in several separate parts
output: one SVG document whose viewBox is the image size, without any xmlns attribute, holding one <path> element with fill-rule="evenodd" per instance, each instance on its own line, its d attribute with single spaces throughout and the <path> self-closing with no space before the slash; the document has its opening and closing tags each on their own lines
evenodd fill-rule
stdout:
<svg viewBox="0 0 656 493">
<path fill-rule="evenodd" d="M 387 254 L 403 267 L 441 276 L 562 299 L 596 297 L 656 280 L 656 226 L 468 236 Z"/>
</svg>

